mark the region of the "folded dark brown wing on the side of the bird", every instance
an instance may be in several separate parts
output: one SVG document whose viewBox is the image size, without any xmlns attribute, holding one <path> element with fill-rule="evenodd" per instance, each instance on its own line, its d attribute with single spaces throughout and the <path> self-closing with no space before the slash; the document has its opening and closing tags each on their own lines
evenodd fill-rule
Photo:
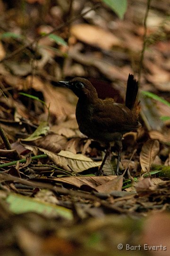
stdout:
<svg viewBox="0 0 170 256">
<path fill-rule="evenodd" d="M 131 110 L 122 104 L 115 103 L 112 99 L 101 101 L 95 108 L 93 124 L 101 130 L 122 133 L 140 126 L 136 115 Z"/>
</svg>

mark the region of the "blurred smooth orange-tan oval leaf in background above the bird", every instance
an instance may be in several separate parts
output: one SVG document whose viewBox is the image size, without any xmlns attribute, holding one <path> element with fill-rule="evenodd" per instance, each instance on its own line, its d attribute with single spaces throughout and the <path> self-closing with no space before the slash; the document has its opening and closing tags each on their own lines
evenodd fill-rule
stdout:
<svg viewBox="0 0 170 256">
<path fill-rule="evenodd" d="M 122 46 L 118 37 L 97 26 L 76 24 L 71 27 L 71 33 L 86 44 L 98 46 L 105 50 L 111 49 L 112 46 Z"/>
</svg>

